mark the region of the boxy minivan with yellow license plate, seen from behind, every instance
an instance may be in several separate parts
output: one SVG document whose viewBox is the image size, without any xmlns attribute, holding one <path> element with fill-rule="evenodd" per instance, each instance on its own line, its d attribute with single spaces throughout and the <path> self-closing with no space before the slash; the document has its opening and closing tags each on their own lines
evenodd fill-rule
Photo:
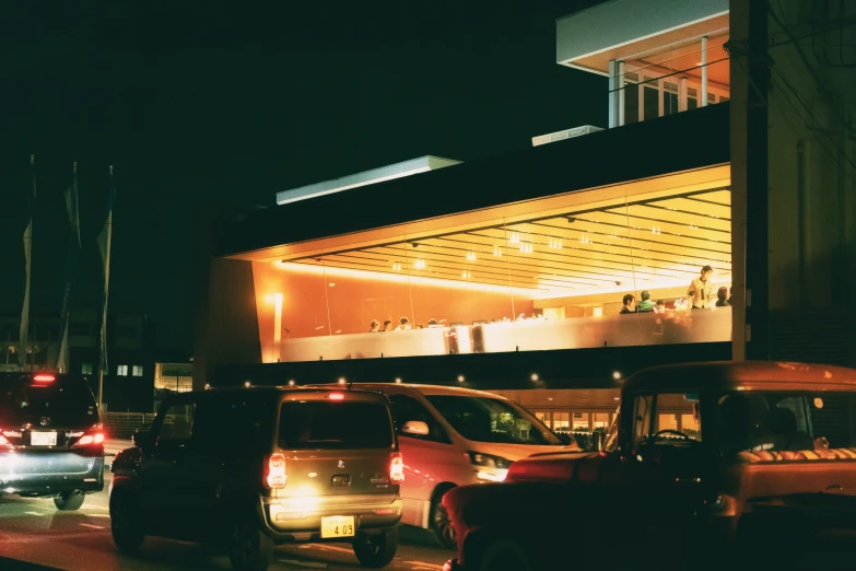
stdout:
<svg viewBox="0 0 856 571">
<path fill-rule="evenodd" d="M 134 444 L 112 467 L 121 551 L 155 535 L 224 547 L 236 570 L 267 569 L 289 541 L 347 541 L 372 568 L 395 557 L 403 470 L 382 393 L 184 393 Z"/>
</svg>

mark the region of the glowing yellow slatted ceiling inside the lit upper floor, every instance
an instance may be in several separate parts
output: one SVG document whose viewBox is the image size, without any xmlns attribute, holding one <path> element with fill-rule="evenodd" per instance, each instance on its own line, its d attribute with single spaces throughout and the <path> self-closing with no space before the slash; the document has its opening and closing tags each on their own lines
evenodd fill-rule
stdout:
<svg viewBox="0 0 856 571">
<path fill-rule="evenodd" d="M 508 286 L 537 295 L 681 286 L 706 264 L 719 277 L 730 275 L 729 205 L 727 188 L 638 197 L 289 263 Z"/>
</svg>

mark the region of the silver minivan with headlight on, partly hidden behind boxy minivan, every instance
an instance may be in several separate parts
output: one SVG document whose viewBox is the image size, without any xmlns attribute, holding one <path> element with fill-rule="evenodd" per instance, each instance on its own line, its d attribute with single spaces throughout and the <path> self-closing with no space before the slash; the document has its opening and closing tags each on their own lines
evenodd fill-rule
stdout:
<svg viewBox="0 0 856 571">
<path fill-rule="evenodd" d="M 536 453 L 578 451 L 528 410 L 505 397 L 462 387 L 361 384 L 392 403 L 404 464 L 401 523 L 432 529 L 454 548 L 443 496 L 456 486 L 502 481 L 512 463 Z"/>
</svg>

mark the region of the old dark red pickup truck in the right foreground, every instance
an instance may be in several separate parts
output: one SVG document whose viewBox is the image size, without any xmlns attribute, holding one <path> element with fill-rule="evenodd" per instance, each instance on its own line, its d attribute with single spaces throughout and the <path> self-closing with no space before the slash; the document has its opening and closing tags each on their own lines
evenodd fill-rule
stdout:
<svg viewBox="0 0 856 571">
<path fill-rule="evenodd" d="M 648 369 L 622 387 L 603 451 L 538 454 L 443 503 L 454 571 L 840 561 L 856 548 L 856 371 Z"/>
</svg>

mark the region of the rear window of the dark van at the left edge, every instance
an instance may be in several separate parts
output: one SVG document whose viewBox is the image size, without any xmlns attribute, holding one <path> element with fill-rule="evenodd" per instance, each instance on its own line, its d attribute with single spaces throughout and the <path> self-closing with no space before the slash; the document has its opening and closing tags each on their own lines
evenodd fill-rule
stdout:
<svg viewBox="0 0 856 571">
<path fill-rule="evenodd" d="M 79 375 L 0 373 L 0 420 L 15 426 L 90 426 L 98 422 L 95 397 Z"/>
</svg>

